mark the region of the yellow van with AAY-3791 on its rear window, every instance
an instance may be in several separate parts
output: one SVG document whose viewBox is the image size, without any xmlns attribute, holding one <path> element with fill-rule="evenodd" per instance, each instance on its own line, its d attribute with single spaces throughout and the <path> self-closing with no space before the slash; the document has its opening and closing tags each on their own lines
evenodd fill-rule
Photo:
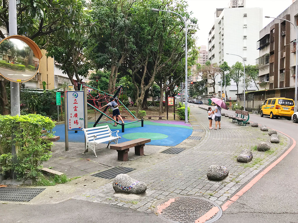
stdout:
<svg viewBox="0 0 298 223">
<path fill-rule="evenodd" d="M 291 120 L 294 113 L 294 100 L 291 98 L 268 98 L 261 107 L 261 117 L 269 115 L 271 119 L 284 117 Z"/>
</svg>

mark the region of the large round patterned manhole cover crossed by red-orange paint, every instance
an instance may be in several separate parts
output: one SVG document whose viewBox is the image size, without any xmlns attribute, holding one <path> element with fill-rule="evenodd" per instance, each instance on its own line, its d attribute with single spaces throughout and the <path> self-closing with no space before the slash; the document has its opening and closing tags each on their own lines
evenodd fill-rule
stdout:
<svg viewBox="0 0 298 223">
<path fill-rule="evenodd" d="M 158 216 L 168 222 L 211 223 L 221 217 L 221 207 L 203 197 L 172 197 L 156 207 Z"/>
</svg>

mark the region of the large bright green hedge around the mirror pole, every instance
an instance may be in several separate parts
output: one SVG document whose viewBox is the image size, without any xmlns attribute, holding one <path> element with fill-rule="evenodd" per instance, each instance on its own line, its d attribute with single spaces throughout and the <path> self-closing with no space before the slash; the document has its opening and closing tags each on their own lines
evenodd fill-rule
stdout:
<svg viewBox="0 0 298 223">
<path fill-rule="evenodd" d="M 49 160 L 53 143 L 42 139 L 43 135 L 53 137 L 54 122 L 39 114 L 21 116 L 0 115 L 0 173 L 15 172 L 18 178 L 38 177 L 42 163 Z M 45 134 L 42 131 L 46 130 Z M 11 154 L 12 139 L 15 134 L 16 161 Z"/>
</svg>

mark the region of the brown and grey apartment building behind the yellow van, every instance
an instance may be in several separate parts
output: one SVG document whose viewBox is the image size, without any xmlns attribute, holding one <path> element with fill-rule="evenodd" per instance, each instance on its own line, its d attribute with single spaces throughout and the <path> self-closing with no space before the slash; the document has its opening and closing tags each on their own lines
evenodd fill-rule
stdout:
<svg viewBox="0 0 298 223">
<path fill-rule="evenodd" d="M 298 25 L 298 1 L 294 1 L 277 18 L 287 19 Z M 289 22 L 274 19 L 260 31 L 257 49 L 259 57 L 256 59 L 256 64 L 259 67 L 261 89 L 266 89 L 267 95 L 294 99 L 296 65 L 294 26 Z"/>
</svg>

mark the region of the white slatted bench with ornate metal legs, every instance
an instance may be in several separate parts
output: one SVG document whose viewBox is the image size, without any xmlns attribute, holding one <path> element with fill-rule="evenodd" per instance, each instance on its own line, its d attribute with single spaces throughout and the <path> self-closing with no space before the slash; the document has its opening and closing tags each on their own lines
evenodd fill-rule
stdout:
<svg viewBox="0 0 298 223">
<path fill-rule="evenodd" d="M 112 131 L 108 125 L 93 127 L 93 128 L 83 128 L 83 131 L 85 133 L 86 138 L 86 147 L 84 151 L 84 155 L 86 154 L 86 150 L 91 149 L 94 152 L 94 157 L 96 156 L 95 152 L 95 146 L 97 146 L 99 143 L 108 142 L 108 145 L 106 148 L 109 147 L 111 142 L 118 143 L 118 139 L 121 138 L 121 136 L 118 136 L 119 130 L 116 130 L 117 136 L 112 136 Z"/>
</svg>

